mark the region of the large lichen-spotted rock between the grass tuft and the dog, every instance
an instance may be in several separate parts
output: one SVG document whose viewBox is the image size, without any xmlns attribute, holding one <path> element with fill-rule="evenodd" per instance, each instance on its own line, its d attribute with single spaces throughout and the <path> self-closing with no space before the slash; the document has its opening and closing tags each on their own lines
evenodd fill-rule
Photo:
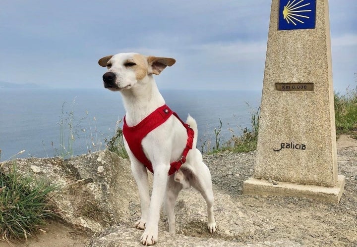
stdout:
<svg viewBox="0 0 357 247">
<path fill-rule="evenodd" d="M 60 217 L 88 234 L 131 222 L 129 218 L 134 216 L 129 208 L 139 205 L 130 161 L 108 150 L 66 160 L 16 159 L 2 162 L 1 166 L 6 172 L 14 162 L 20 174 L 60 185 L 60 192 L 52 198 Z"/>
</svg>

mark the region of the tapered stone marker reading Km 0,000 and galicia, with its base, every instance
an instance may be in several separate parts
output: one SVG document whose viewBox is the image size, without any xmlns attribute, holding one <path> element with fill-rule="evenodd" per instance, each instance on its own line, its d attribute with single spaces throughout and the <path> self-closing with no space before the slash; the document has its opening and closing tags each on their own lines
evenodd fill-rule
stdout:
<svg viewBox="0 0 357 247">
<path fill-rule="evenodd" d="M 243 194 L 338 203 L 328 0 L 272 0 L 254 177 Z"/>
</svg>

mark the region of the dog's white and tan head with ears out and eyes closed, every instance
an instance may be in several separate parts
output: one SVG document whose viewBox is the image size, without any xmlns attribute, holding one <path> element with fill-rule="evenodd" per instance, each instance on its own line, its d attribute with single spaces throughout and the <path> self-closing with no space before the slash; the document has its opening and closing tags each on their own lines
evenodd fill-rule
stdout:
<svg viewBox="0 0 357 247">
<path fill-rule="evenodd" d="M 103 75 L 104 87 L 111 91 L 131 89 L 137 83 L 145 83 L 152 74 L 159 75 L 166 66 L 176 60 L 168 57 L 144 56 L 138 53 L 119 53 L 99 59 L 108 71 Z"/>
</svg>

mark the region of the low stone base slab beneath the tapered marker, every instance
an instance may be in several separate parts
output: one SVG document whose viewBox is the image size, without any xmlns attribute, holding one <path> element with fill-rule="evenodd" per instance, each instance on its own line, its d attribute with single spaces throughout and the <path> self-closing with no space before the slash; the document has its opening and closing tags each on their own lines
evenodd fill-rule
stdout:
<svg viewBox="0 0 357 247">
<path fill-rule="evenodd" d="M 301 185 L 278 182 L 273 185 L 265 179 L 249 178 L 243 182 L 243 195 L 305 197 L 339 203 L 345 187 L 345 176 L 339 175 L 335 187 Z"/>
</svg>

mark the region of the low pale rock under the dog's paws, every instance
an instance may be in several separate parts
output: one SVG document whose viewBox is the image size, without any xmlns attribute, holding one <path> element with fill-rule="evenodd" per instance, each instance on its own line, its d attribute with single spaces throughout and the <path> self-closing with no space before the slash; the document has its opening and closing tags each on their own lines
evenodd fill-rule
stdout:
<svg viewBox="0 0 357 247">
<path fill-rule="evenodd" d="M 299 247 L 299 243 L 280 239 L 263 241 L 254 245 L 246 243 L 252 237 L 264 239 L 264 233 L 273 231 L 268 218 L 259 216 L 229 195 L 215 193 L 215 218 L 218 230 L 210 234 L 207 230 L 206 202 L 194 189 L 183 190 L 175 206 L 176 234 L 168 231 L 167 217 L 161 212 L 159 242 L 156 246 L 255 246 L 255 247 Z M 139 243 L 143 232 L 131 225 L 111 227 L 93 236 L 88 247 L 142 246 Z"/>
</svg>

